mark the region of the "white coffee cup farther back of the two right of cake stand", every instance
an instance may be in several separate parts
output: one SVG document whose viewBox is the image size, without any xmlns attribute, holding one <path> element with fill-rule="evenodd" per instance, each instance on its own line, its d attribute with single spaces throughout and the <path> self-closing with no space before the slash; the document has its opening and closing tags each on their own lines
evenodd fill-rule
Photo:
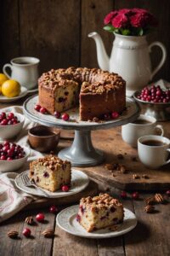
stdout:
<svg viewBox="0 0 170 256">
<path fill-rule="evenodd" d="M 137 148 L 138 139 L 144 135 L 154 135 L 160 130 L 161 136 L 164 131 L 161 125 L 156 125 L 156 119 L 151 116 L 140 114 L 139 118 L 127 125 L 122 125 L 122 139 L 125 143 Z"/>
</svg>

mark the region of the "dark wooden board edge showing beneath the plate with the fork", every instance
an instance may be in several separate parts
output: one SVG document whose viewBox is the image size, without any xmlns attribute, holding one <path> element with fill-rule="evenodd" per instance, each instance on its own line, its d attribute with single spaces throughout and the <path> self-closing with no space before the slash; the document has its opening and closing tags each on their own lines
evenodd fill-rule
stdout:
<svg viewBox="0 0 170 256">
<path fill-rule="evenodd" d="M 41 207 L 51 207 L 53 205 L 55 206 L 64 206 L 69 205 L 73 203 L 78 203 L 82 197 L 86 196 L 94 196 L 98 193 L 98 185 L 97 183 L 94 183 L 94 181 L 90 181 L 88 184 L 88 187 L 81 192 L 75 194 L 75 195 L 69 195 L 65 197 L 60 198 L 42 198 L 37 197 L 36 201 L 31 202 L 30 205 L 26 206 L 23 211 L 26 211 L 28 209 L 37 209 Z"/>
</svg>

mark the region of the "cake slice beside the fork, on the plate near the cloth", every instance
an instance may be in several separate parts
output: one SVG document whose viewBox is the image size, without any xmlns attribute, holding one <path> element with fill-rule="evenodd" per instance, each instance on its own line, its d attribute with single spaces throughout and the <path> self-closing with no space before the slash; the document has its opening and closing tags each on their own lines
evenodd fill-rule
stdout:
<svg viewBox="0 0 170 256">
<path fill-rule="evenodd" d="M 30 164 L 29 177 L 38 187 L 54 192 L 71 185 L 71 162 L 48 155 Z"/>
</svg>

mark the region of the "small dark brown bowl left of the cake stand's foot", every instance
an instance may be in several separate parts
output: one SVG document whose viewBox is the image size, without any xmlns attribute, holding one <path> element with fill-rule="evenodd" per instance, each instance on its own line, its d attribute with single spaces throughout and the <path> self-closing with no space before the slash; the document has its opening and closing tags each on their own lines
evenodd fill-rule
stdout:
<svg viewBox="0 0 170 256">
<path fill-rule="evenodd" d="M 39 152 L 49 152 L 56 149 L 59 143 L 59 134 L 59 129 L 39 125 L 28 131 L 28 140 L 31 148 Z"/>
</svg>

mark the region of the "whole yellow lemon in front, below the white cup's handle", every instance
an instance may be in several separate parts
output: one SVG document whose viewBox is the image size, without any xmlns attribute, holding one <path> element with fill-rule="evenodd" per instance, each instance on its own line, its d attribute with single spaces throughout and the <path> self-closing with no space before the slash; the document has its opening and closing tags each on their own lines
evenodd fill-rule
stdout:
<svg viewBox="0 0 170 256">
<path fill-rule="evenodd" d="M 8 98 L 20 95 L 20 84 L 16 80 L 8 79 L 2 85 L 2 93 Z"/>
</svg>

